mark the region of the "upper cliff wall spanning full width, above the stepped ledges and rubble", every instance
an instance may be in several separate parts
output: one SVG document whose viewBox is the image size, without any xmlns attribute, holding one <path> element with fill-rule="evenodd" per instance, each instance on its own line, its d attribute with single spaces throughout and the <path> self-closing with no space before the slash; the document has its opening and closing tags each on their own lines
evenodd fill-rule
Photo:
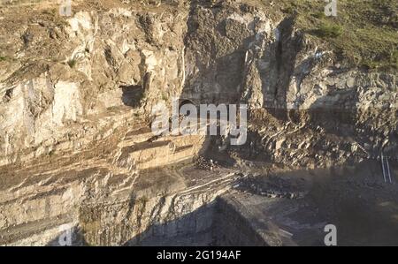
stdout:
<svg viewBox="0 0 398 264">
<path fill-rule="evenodd" d="M 172 97 L 270 113 L 349 112 L 348 123 L 378 132 L 366 142 L 372 152 L 396 134 L 396 75 L 342 69 L 293 17 L 244 3 L 113 5 L 78 5 L 70 18 L 42 8 L 18 18 L 18 29 L 16 14 L 4 13 L 13 57 L 2 62 L 2 164 L 75 149 L 103 137 L 120 112 L 149 117 Z"/>
</svg>

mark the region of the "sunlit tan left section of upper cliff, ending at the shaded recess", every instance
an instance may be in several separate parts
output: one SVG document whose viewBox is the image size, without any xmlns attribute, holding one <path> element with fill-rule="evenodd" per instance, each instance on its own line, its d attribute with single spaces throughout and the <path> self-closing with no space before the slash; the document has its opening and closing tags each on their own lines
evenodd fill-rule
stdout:
<svg viewBox="0 0 398 264">
<path fill-rule="evenodd" d="M 78 6 L 71 18 L 48 9 L 4 14 L 14 57 L 2 63 L 2 164 L 74 149 L 131 109 L 150 113 L 180 94 L 186 13 L 139 6 Z"/>
</svg>

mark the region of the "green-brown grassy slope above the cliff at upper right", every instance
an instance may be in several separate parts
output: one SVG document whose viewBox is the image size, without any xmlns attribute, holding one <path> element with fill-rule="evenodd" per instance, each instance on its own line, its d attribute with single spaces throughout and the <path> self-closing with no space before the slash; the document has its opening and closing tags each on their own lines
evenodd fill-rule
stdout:
<svg viewBox="0 0 398 264">
<path fill-rule="evenodd" d="M 323 0 L 282 0 L 297 26 L 327 41 L 349 64 L 398 70 L 398 1 L 337 0 L 337 17 L 325 16 Z"/>
</svg>

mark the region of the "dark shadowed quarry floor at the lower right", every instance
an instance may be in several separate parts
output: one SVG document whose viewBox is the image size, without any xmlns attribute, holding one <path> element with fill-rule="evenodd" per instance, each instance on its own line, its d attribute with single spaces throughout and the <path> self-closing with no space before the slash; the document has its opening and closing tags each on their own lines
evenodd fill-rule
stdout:
<svg viewBox="0 0 398 264">
<path fill-rule="evenodd" d="M 275 203 L 268 214 L 285 230 L 296 229 L 299 245 L 324 245 L 326 223 L 337 227 L 338 245 L 398 245 L 396 186 L 384 183 L 379 162 L 366 161 L 245 177 L 238 189 Z"/>
</svg>

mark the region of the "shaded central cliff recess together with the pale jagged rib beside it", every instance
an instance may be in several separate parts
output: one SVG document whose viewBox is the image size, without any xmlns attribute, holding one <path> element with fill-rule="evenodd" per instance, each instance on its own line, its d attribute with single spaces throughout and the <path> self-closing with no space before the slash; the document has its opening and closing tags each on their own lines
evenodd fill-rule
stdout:
<svg viewBox="0 0 398 264">
<path fill-rule="evenodd" d="M 245 7 L 191 5 L 182 96 L 208 103 L 248 102 L 254 109 L 286 104 L 282 91 L 300 36 L 292 33 L 293 20 L 274 21 L 266 10 Z"/>
</svg>

